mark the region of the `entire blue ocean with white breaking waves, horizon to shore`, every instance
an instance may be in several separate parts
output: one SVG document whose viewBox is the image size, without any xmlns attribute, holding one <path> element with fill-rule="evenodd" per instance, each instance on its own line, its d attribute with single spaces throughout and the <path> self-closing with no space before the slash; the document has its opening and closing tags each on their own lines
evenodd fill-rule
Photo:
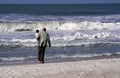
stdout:
<svg viewBox="0 0 120 78">
<path fill-rule="evenodd" d="M 46 60 L 120 54 L 120 4 L 0 4 L 0 65 L 37 60 L 42 27 Z"/>
</svg>

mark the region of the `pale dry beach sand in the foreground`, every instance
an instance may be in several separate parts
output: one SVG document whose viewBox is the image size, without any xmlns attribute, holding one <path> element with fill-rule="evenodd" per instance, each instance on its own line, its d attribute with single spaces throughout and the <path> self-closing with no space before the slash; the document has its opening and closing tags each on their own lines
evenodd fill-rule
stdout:
<svg viewBox="0 0 120 78">
<path fill-rule="evenodd" d="M 0 78 L 120 78 L 120 58 L 0 66 Z"/>
</svg>

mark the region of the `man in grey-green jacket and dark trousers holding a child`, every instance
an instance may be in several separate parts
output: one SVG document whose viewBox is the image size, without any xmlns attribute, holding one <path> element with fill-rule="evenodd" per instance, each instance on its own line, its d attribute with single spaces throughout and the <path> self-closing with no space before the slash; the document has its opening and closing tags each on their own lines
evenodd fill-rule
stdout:
<svg viewBox="0 0 120 78">
<path fill-rule="evenodd" d="M 46 28 L 42 28 L 38 41 L 38 61 L 40 63 L 44 63 L 44 55 L 47 43 L 49 46 L 51 46 L 49 34 L 46 32 Z"/>
</svg>

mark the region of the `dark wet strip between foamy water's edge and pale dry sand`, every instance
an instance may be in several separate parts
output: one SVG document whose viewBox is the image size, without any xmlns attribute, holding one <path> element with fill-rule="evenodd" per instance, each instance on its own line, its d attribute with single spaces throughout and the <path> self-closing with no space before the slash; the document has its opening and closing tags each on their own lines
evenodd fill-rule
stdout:
<svg viewBox="0 0 120 78">
<path fill-rule="evenodd" d="M 45 58 L 45 63 L 60 63 L 60 62 L 75 62 L 75 61 L 86 61 L 86 60 L 97 60 L 97 59 L 112 59 L 120 58 L 120 54 L 113 54 L 110 56 L 94 56 L 94 57 L 75 57 L 75 58 Z M 37 59 L 28 59 L 21 61 L 0 61 L 1 66 L 13 66 L 13 65 L 29 65 L 29 64 L 38 64 Z"/>
</svg>

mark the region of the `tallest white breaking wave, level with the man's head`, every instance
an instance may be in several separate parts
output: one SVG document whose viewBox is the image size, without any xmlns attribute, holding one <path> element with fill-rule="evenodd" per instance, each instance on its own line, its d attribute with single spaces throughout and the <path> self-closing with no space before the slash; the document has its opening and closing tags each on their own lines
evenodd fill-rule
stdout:
<svg viewBox="0 0 120 78">
<path fill-rule="evenodd" d="M 120 22 L 101 23 L 101 22 L 33 22 L 26 23 L 0 23 L 0 31 L 35 31 L 46 27 L 49 30 L 117 30 L 120 29 Z"/>
</svg>

